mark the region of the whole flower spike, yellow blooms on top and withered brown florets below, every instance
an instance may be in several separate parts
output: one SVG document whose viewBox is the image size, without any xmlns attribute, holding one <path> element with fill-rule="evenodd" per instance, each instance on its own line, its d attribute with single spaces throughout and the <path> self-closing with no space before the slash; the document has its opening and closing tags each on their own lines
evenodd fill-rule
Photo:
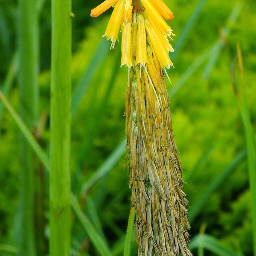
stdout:
<svg viewBox="0 0 256 256">
<path fill-rule="evenodd" d="M 113 49 L 116 31 L 122 30 L 121 66 L 129 68 L 125 135 L 138 255 L 192 256 L 188 201 L 164 81 L 166 69 L 173 67 L 169 52 L 175 36 L 164 18 L 173 14 L 162 0 L 141 3 L 118 0 L 105 32 Z"/>
</svg>

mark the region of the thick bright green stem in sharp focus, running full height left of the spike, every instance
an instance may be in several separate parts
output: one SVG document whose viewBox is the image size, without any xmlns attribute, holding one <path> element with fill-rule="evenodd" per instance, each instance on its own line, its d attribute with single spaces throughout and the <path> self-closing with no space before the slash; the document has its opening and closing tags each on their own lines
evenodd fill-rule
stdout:
<svg viewBox="0 0 256 256">
<path fill-rule="evenodd" d="M 70 14 L 70 0 L 52 0 L 50 256 L 70 255 Z"/>
</svg>

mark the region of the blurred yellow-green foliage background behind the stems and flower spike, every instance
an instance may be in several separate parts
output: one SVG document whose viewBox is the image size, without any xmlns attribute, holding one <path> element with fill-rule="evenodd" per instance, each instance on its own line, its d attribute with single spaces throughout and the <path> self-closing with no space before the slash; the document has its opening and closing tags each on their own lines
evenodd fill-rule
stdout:
<svg viewBox="0 0 256 256">
<path fill-rule="evenodd" d="M 100 52 L 99 65 L 82 96 L 72 121 L 72 191 L 80 195 L 82 184 L 88 180 L 116 146 L 123 140 L 125 118 L 124 102 L 127 68 L 119 68 L 120 44 L 114 52 L 105 56 L 101 36 L 105 31 L 110 12 L 99 18 L 90 17 L 90 9 L 100 1 L 73 0 L 73 89 L 92 65 L 92 58 Z M 198 0 L 173 0 L 166 3 L 175 14 L 169 24 L 177 35 L 177 41 L 189 20 Z M 244 78 L 247 87 L 247 102 L 252 123 L 256 124 L 256 2 L 246 0 L 238 19 L 230 26 L 227 18 L 236 5 L 236 0 L 208 0 L 198 20 L 184 41 L 175 58 L 175 69 L 168 71 L 172 84 L 170 90 L 187 68 L 218 38 L 224 48 L 205 77 L 205 61 L 171 98 L 173 129 L 180 160 L 183 164 L 183 179 L 190 209 L 200 200 L 210 184 L 234 160 L 246 143 L 244 128 L 237 108 L 231 82 L 231 64 L 236 58 L 236 43 L 241 44 L 244 58 Z M 0 1 L 0 85 L 2 85 L 11 58 L 16 48 L 17 3 L 14 0 Z M 225 38 L 222 28 L 230 26 L 230 35 Z M 36 127 L 40 131 L 40 144 L 48 150 L 49 145 L 49 84 L 50 84 L 50 2 L 43 5 L 40 17 L 41 74 L 40 113 Z M 99 45 L 101 44 L 101 47 Z M 175 45 L 175 42 L 174 42 Z M 175 47 L 174 47 L 175 48 Z M 210 56 L 212 58 L 213 55 Z M 172 57 L 172 55 L 171 55 Z M 113 81 L 112 81 L 113 80 Z M 12 106 L 18 110 L 16 79 L 9 93 Z M 60 127 L 61 129 L 61 127 Z M 19 199 L 19 129 L 7 111 L 0 120 L 0 244 L 16 244 Z M 124 241 L 130 211 L 131 190 L 128 188 L 128 161 L 125 151 L 117 163 L 102 179 L 93 185 L 86 195 L 80 196 L 84 212 L 105 234 L 111 247 Z M 202 160 L 202 161 L 201 161 Z M 41 169 L 38 163 L 38 170 Z M 48 239 L 48 177 L 42 176 L 45 187 L 44 237 L 45 253 Z M 247 163 L 244 159 L 214 191 L 192 222 L 191 236 L 199 233 L 206 224 L 205 233 L 244 255 L 253 254 L 251 201 Z M 98 255 L 81 224 L 73 215 L 73 255 Z M 136 255 L 136 242 L 132 242 L 132 255 Z M 197 251 L 194 251 L 197 255 Z M 0 255 L 1 252 L 0 252 Z M 3 255 L 8 255 L 3 253 Z M 122 255 L 122 250 L 116 255 Z M 212 255 L 207 252 L 206 255 Z M 213 254 L 215 255 L 215 254 Z"/>
</svg>

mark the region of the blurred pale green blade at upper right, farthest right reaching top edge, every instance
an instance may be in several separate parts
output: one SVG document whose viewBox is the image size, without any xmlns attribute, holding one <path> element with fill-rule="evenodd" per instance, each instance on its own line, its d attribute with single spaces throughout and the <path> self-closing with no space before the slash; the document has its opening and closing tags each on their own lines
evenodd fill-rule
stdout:
<svg viewBox="0 0 256 256">
<path fill-rule="evenodd" d="M 227 37 L 230 35 L 230 28 L 233 26 L 233 24 L 236 22 L 237 18 L 239 17 L 239 13 L 242 9 L 243 4 L 239 1 L 234 6 L 230 17 L 227 20 L 227 26 L 225 26 L 221 30 L 221 36 L 218 39 L 218 41 L 215 44 L 215 47 L 212 48 L 210 59 L 204 69 L 204 79 L 208 79 L 209 75 L 213 69 L 213 67 L 216 64 L 216 61 L 218 60 L 218 56 L 220 55 L 221 49 L 223 49 L 225 45 L 225 41 L 227 40 Z"/>
</svg>

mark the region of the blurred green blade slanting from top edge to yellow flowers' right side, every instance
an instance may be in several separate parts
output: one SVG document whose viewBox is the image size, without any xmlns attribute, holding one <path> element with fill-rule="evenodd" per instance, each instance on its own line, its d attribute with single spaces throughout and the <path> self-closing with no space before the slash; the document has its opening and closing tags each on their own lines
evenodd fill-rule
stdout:
<svg viewBox="0 0 256 256">
<path fill-rule="evenodd" d="M 184 29 L 182 30 L 181 34 L 179 35 L 177 42 L 174 45 L 175 52 L 172 53 L 172 60 L 175 60 L 178 52 L 180 52 L 183 45 L 185 44 L 186 38 L 189 35 L 189 32 L 191 31 L 192 27 L 195 25 L 196 21 L 198 20 L 198 17 L 199 17 L 206 2 L 207 2 L 207 0 L 200 0 L 198 2 L 198 5 L 195 7 L 192 15 L 190 16 Z"/>
</svg>

